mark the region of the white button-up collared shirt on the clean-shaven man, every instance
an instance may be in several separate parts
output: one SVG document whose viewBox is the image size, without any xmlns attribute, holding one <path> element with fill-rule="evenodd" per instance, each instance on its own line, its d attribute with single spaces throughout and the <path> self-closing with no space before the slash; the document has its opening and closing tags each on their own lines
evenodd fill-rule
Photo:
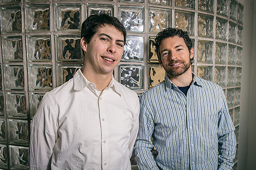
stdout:
<svg viewBox="0 0 256 170">
<path fill-rule="evenodd" d="M 112 78 L 102 93 L 81 70 L 45 94 L 31 123 L 30 170 L 131 170 L 137 94 Z"/>
</svg>

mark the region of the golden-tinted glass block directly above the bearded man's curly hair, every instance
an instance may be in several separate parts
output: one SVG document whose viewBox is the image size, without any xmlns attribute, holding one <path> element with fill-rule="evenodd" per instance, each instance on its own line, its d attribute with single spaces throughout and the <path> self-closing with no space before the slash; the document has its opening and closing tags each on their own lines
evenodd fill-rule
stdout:
<svg viewBox="0 0 256 170">
<path fill-rule="evenodd" d="M 187 31 L 189 36 L 194 35 L 195 13 L 186 11 L 175 11 L 175 28 Z"/>
</svg>

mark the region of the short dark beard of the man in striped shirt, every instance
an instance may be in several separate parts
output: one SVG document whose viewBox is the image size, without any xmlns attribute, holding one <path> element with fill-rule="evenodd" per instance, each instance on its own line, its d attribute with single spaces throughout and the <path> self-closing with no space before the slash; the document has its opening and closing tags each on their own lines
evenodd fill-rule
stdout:
<svg viewBox="0 0 256 170">
<path fill-rule="evenodd" d="M 182 62 L 183 65 L 177 68 L 171 68 L 171 65 L 179 62 Z M 163 67 L 169 75 L 181 76 L 184 72 L 186 72 L 189 69 L 190 65 L 191 65 L 190 61 L 186 63 L 185 61 L 181 61 L 181 60 L 175 60 L 175 61 L 173 60 L 169 62 L 168 65 L 164 65 Z"/>
</svg>

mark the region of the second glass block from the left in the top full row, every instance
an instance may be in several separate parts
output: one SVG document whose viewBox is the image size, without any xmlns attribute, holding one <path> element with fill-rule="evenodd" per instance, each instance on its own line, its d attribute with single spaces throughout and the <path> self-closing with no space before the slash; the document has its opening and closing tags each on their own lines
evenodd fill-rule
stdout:
<svg viewBox="0 0 256 170">
<path fill-rule="evenodd" d="M 26 31 L 46 31 L 50 28 L 50 6 L 45 4 L 25 6 Z"/>
</svg>

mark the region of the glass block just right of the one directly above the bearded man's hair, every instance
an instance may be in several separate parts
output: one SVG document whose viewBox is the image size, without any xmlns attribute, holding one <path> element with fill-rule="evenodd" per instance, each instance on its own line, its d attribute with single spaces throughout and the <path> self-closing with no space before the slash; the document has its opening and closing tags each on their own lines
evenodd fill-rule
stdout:
<svg viewBox="0 0 256 170">
<path fill-rule="evenodd" d="M 213 15 L 198 14 L 198 35 L 213 38 Z"/>
</svg>

